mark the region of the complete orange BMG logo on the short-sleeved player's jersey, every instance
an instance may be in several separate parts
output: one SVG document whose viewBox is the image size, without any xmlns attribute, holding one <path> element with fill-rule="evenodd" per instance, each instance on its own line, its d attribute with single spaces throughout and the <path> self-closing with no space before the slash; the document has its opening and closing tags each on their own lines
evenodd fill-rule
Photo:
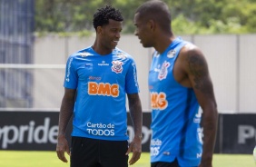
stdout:
<svg viewBox="0 0 256 167">
<path fill-rule="evenodd" d="M 90 95 L 107 95 L 118 97 L 119 96 L 119 85 L 110 83 L 88 83 L 88 94 Z"/>
</svg>

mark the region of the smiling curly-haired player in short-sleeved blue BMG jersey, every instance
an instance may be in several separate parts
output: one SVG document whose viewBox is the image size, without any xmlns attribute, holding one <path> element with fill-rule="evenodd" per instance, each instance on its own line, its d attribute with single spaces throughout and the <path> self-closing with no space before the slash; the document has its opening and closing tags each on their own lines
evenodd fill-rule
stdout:
<svg viewBox="0 0 256 167">
<path fill-rule="evenodd" d="M 123 16 L 111 5 L 94 14 L 96 38 L 66 64 L 56 152 L 71 167 L 127 167 L 142 152 L 142 105 L 133 57 L 119 48 Z M 126 95 L 134 128 L 128 143 Z M 72 116 L 71 150 L 65 138 Z M 133 156 L 128 162 L 128 154 Z"/>
</svg>

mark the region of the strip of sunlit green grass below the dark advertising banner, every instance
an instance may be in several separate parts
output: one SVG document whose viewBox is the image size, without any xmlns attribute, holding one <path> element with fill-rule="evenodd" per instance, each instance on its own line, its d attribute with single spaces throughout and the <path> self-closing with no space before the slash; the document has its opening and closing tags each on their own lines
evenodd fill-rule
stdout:
<svg viewBox="0 0 256 167">
<path fill-rule="evenodd" d="M 143 152 L 133 167 L 149 167 L 149 153 Z M 58 160 L 55 152 L 0 151 L 0 167 L 68 167 Z M 214 167 L 255 167 L 252 154 L 214 154 Z"/>
</svg>

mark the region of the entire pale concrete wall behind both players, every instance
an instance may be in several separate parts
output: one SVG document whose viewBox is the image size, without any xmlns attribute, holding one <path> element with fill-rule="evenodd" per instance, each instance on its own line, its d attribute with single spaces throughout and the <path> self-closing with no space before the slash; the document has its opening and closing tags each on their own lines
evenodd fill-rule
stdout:
<svg viewBox="0 0 256 167">
<path fill-rule="evenodd" d="M 59 108 L 64 93 L 64 64 L 69 54 L 94 44 L 95 36 L 35 39 L 34 64 L 61 64 L 34 70 L 34 108 Z M 222 113 L 256 113 L 256 34 L 187 35 L 205 55 Z M 123 34 L 118 47 L 132 54 L 138 71 L 143 111 L 150 111 L 147 85 L 153 48 L 143 48 L 133 34 Z"/>
</svg>

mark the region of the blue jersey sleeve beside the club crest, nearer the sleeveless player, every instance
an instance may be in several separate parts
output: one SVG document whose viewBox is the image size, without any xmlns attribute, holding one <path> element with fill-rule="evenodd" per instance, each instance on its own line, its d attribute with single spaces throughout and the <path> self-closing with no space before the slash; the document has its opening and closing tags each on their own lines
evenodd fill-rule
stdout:
<svg viewBox="0 0 256 167">
<path fill-rule="evenodd" d="M 139 84 L 137 80 L 137 69 L 136 64 L 131 59 L 131 64 L 129 65 L 126 77 L 125 77 L 125 90 L 126 93 L 139 93 Z"/>
</svg>

